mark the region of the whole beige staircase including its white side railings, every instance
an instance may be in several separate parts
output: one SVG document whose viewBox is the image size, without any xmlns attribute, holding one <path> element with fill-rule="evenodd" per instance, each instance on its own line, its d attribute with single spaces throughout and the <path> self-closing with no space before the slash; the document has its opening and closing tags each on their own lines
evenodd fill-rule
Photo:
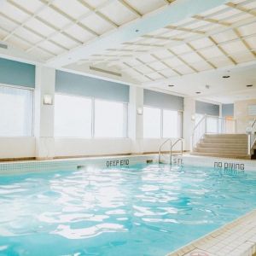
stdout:
<svg viewBox="0 0 256 256">
<path fill-rule="evenodd" d="M 247 134 L 237 134 L 236 119 L 205 115 L 195 125 L 190 152 L 194 155 L 256 159 L 256 119 L 247 127 Z"/>
</svg>

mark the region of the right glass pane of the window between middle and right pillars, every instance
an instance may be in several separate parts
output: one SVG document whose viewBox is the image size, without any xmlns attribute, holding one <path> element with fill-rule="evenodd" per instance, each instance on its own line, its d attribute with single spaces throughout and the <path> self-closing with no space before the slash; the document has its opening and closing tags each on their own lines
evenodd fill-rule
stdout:
<svg viewBox="0 0 256 256">
<path fill-rule="evenodd" d="M 163 137 L 181 137 L 181 114 L 163 110 Z"/>
</svg>

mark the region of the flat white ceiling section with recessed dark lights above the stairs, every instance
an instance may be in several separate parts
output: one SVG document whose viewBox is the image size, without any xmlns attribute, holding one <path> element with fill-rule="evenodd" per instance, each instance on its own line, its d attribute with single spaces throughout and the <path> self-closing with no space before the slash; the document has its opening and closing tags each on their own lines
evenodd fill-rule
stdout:
<svg viewBox="0 0 256 256">
<path fill-rule="evenodd" d="M 230 78 L 224 79 L 223 76 L 230 76 Z M 170 84 L 174 86 L 169 87 Z M 250 84 L 253 84 L 253 87 L 247 87 Z M 151 88 L 172 91 L 180 96 L 195 96 L 198 99 L 222 103 L 256 98 L 256 62 L 232 69 L 223 68 L 193 73 L 174 78 L 169 83 L 153 84 Z"/>
</svg>

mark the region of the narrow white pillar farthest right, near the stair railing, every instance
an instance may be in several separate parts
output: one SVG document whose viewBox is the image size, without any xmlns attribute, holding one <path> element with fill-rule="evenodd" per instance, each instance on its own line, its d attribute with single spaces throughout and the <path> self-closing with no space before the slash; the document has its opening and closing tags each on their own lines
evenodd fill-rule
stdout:
<svg viewBox="0 0 256 256">
<path fill-rule="evenodd" d="M 190 139 L 195 127 L 195 99 L 192 97 L 184 98 L 183 112 L 183 137 L 185 139 L 184 150 L 190 149 Z"/>
</svg>

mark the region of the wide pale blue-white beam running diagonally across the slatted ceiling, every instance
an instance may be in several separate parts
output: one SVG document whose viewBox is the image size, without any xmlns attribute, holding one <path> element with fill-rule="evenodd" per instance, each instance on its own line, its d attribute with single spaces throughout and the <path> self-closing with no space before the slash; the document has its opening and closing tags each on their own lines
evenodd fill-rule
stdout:
<svg viewBox="0 0 256 256">
<path fill-rule="evenodd" d="M 45 0 L 40 0 L 45 3 Z M 125 0 L 119 0 L 125 3 Z M 118 30 L 96 38 L 89 44 L 79 46 L 67 53 L 52 58 L 47 65 L 63 67 L 105 49 L 113 48 L 134 38 L 148 34 L 172 23 L 191 18 L 209 9 L 228 3 L 229 0 L 179 0 L 166 5 L 165 8 L 154 11 L 151 15 L 143 15 L 129 25 L 120 26 Z M 46 2 L 47 3 L 47 2 Z M 51 5 L 52 7 L 52 5 Z M 68 17 L 70 19 L 70 17 Z"/>
</svg>

